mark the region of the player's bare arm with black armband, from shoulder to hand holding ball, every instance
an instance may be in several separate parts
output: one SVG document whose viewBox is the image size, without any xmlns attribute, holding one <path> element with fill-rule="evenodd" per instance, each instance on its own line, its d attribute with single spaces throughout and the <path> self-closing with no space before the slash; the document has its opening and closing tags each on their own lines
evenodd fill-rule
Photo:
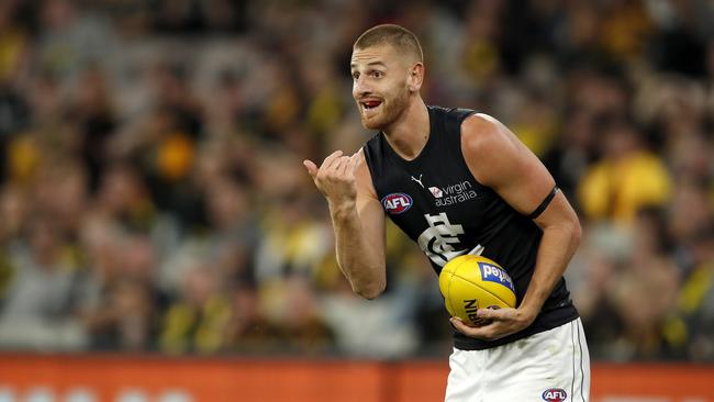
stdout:
<svg viewBox="0 0 714 402">
<path fill-rule="evenodd" d="M 540 160 L 509 129 L 488 115 L 476 114 L 464 121 L 461 149 L 473 177 L 524 215 L 531 214 L 555 186 Z M 458 331 L 477 338 L 497 339 L 524 330 L 536 319 L 574 254 L 581 228 L 562 192 L 556 194 L 535 223 L 543 230 L 543 238 L 521 305 L 479 309 L 478 316 L 490 321 L 479 327 L 451 319 Z"/>
</svg>

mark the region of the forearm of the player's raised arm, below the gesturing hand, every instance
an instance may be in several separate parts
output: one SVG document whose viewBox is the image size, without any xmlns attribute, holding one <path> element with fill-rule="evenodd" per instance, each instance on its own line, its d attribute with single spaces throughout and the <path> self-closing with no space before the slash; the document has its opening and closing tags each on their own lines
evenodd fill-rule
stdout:
<svg viewBox="0 0 714 402">
<path fill-rule="evenodd" d="M 377 255 L 365 238 L 359 213 L 354 203 L 330 203 L 330 215 L 335 232 L 337 264 L 355 293 L 365 299 L 378 297 L 386 287 L 383 256 Z M 375 241 L 375 239 L 371 239 Z"/>
</svg>

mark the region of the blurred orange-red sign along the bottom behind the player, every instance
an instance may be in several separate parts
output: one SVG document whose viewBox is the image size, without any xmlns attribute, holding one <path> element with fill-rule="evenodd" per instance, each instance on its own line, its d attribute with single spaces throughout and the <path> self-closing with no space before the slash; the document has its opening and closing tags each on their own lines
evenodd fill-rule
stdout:
<svg viewBox="0 0 714 402">
<path fill-rule="evenodd" d="M 444 361 L 0 355 L 0 402 L 442 401 Z M 592 367 L 593 402 L 714 402 L 714 366 Z"/>
</svg>

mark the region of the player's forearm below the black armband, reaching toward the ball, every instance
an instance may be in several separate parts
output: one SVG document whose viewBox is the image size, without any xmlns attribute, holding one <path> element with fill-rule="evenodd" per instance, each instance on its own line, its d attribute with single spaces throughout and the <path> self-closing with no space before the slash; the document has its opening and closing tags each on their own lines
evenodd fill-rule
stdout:
<svg viewBox="0 0 714 402">
<path fill-rule="evenodd" d="M 544 228 L 536 267 L 520 305 L 534 319 L 568 267 L 580 244 L 580 235 L 581 228 L 577 220 Z"/>
</svg>

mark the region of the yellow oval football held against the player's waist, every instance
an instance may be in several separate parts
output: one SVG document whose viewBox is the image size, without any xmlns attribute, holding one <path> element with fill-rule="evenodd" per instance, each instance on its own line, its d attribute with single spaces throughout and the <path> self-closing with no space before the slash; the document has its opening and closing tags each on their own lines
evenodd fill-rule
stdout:
<svg viewBox="0 0 714 402">
<path fill-rule="evenodd" d="M 448 261 L 438 277 L 446 310 L 467 325 L 479 325 L 478 309 L 515 308 L 515 288 L 505 269 L 481 256 Z"/>
</svg>

